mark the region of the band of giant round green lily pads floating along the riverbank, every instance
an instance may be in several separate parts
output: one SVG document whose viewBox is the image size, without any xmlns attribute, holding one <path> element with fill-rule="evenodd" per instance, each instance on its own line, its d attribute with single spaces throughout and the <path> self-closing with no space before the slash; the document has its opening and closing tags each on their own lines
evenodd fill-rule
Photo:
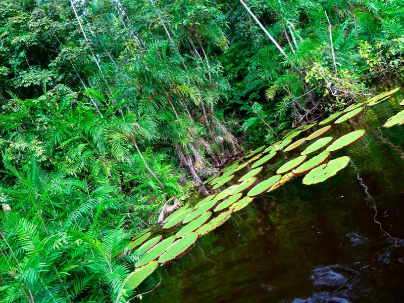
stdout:
<svg viewBox="0 0 404 303">
<path fill-rule="evenodd" d="M 224 224 L 234 212 L 247 206 L 254 197 L 271 192 L 296 176 L 304 175 L 302 183 L 305 185 L 318 184 L 335 176 L 347 166 L 350 158 L 340 156 L 329 161 L 331 154 L 360 140 L 366 132 L 364 129 L 358 129 L 337 139 L 324 135 L 333 125 L 349 121 L 363 112 L 366 106 L 373 106 L 386 100 L 397 90 L 351 105 L 319 123 L 301 125 L 286 134 L 281 141 L 269 147 L 261 146 L 249 151 L 206 180 L 204 184 L 210 186 L 214 194 L 200 200 L 194 206 L 188 204 L 182 206 L 164 220 L 162 231 L 174 230 L 173 235 L 167 238 L 162 235 L 151 237 L 153 233 L 145 230 L 132 239 L 128 250 L 137 256 L 136 270 L 127 277 L 124 287 L 128 289 L 137 287 L 159 265 L 180 257 L 198 237 Z M 322 127 L 310 135 L 297 139 L 299 135 L 317 124 Z M 391 117 L 385 126 L 397 124 L 404 124 L 404 111 Z M 273 176 L 257 183 L 258 176 L 266 170 L 265 164 L 279 154 L 288 157 L 293 154 L 292 151 L 296 152 L 298 149 L 301 149 L 299 154 L 278 167 Z M 237 179 L 237 172 L 244 168 L 248 171 Z M 228 185 L 230 182 L 233 184 Z"/>
</svg>

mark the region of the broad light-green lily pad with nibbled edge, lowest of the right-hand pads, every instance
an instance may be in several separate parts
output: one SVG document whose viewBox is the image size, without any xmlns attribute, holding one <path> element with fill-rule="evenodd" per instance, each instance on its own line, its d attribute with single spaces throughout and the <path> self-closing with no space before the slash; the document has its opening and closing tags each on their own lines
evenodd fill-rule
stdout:
<svg viewBox="0 0 404 303">
<path fill-rule="evenodd" d="M 349 160 L 349 157 L 343 156 L 317 166 L 303 178 L 303 184 L 313 185 L 326 181 L 332 176 L 335 176 L 342 168 L 346 167 Z"/>
</svg>

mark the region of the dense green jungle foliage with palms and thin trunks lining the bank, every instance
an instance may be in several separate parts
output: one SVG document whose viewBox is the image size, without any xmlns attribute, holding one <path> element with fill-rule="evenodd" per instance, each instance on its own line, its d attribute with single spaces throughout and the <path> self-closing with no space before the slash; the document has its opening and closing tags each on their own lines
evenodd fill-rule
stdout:
<svg viewBox="0 0 404 303">
<path fill-rule="evenodd" d="M 402 0 L 2 0 L 0 301 L 123 302 L 121 252 L 244 146 L 400 75 Z"/>
</svg>

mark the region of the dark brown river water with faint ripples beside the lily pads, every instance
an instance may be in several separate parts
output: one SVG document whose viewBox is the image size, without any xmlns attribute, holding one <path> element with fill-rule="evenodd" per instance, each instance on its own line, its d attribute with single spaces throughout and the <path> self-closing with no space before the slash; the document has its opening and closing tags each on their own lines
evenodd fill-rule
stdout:
<svg viewBox="0 0 404 303">
<path fill-rule="evenodd" d="M 310 187 L 296 177 L 256 198 L 143 282 L 147 292 L 161 281 L 143 301 L 404 301 L 404 126 L 381 127 L 402 98 L 326 135 L 367 130 L 332 155 L 352 159 L 337 176 Z M 268 176 L 297 154 L 280 153 Z"/>
</svg>

